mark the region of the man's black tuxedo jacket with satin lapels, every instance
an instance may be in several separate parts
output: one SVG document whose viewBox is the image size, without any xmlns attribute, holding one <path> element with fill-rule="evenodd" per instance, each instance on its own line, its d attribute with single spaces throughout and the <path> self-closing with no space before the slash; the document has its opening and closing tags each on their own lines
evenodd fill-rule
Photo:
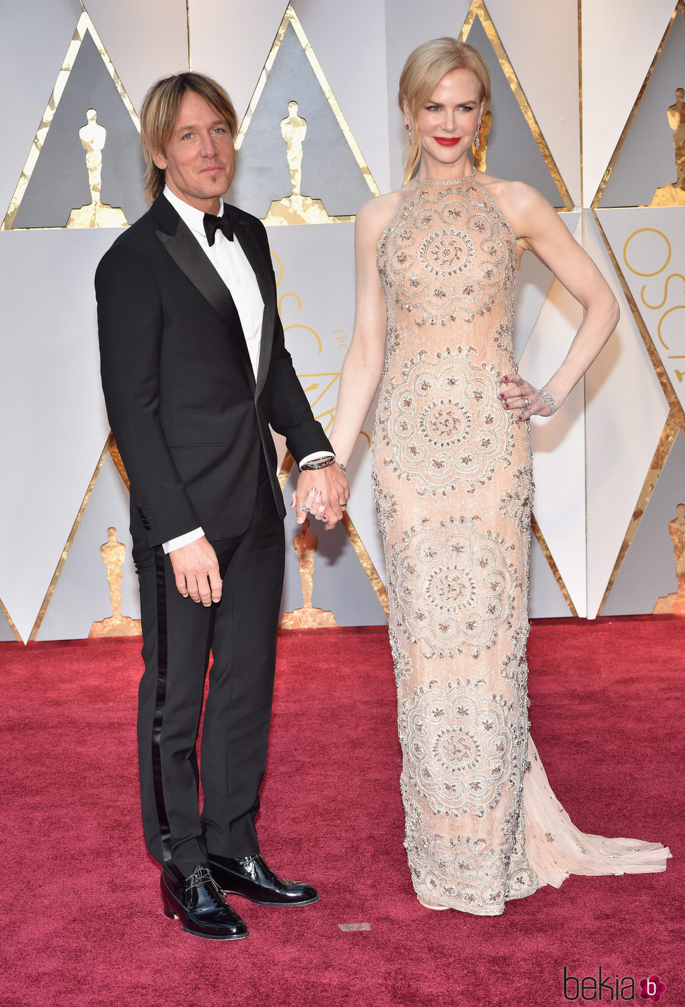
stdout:
<svg viewBox="0 0 685 1007">
<path fill-rule="evenodd" d="M 270 424 L 296 459 L 331 449 L 285 346 L 267 233 L 248 213 L 233 215 L 265 302 L 256 381 L 230 292 L 163 195 L 96 274 L 103 390 L 131 480 L 131 533 L 150 547 L 200 525 L 210 540 L 240 535 L 263 454 L 285 516 Z"/>
</svg>

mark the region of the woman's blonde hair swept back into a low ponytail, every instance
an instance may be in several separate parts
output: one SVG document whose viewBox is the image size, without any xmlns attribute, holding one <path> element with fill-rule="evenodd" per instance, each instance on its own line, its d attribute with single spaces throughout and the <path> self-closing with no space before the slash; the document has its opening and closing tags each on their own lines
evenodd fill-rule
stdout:
<svg viewBox="0 0 685 1007">
<path fill-rule="evenodd" d="M 406 160 L 406 177 L 410 178 L 418 167 L 421 157 L 421 142 L 416 129 L 416 113 L 427 102 L 436 85 L 453 69 L 470 69 L 478 78 L 481 86 L 481 101 L 485 99 L 486 112 L 492 97 L 490 70 L 485 59 L 473 45 L 458 42 L 456 38 L 444 36 L 423 42 L 413 50 L 404 63 L 399 77 L 397 104 L 407 115 L 414 142 L 409 147 Z M 406 109 L 405 109 L 406 106 Z"/>
</svg>

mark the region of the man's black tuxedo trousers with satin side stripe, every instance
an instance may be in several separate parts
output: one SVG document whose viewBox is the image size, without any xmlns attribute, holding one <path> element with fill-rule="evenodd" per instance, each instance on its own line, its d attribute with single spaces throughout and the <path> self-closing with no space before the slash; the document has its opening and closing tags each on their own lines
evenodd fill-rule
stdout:
<svg viewBox="0 0 685 1007">
<path fill-rule="evenodd" d="M 138 711 L 143 827 L 153 856 L 184 877 L 206 863 L 208 853 L 243 857 L 260 849 L 253 818 L 284 572 L 283 523 L 268 480 L 260 484 L 246 532 L 212 545 L 223 587 L 221 601 L 210 608 L 181 597 L 161 547 L 136 540 L 133 552 L 145 661 Z M 210 650 L 200 815 L 196 742 Z"/>
</svg>

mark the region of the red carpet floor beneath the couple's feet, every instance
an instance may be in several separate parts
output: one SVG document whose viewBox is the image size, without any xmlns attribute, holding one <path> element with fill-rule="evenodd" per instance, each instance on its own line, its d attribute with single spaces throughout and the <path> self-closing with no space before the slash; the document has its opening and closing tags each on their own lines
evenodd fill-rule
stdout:
<svg viewBox="0 0 685 1007">
<path fill-rule="evenodd" d="M 640 980 L 657 974 L 660 1005 L 680 1007 L 684 643 L 685 623 L 670 616 L 534 625 L 532 732 L 557 796 L 583 830 L 659 840 L 674 859 L 665 874 L 571 877 L 503 916 L 474 917 L 432 913 L 411 890 L 385 630 L 283 633 L 260 834 L 268 859 L 322 898 L 301 909 L 235 898 L 250 936 L 229 944 L 162 913 L 139 823 L 139 642 L 0 644 L 0 1003 L 598 1001 L 589 980 L 585 1001 L 572 982 L 564 998 L 565 966 L 595 984 L 602 967 L 604 1002 L 618 977 L 620 1002 L 651 1004 Z"/>
</svg>

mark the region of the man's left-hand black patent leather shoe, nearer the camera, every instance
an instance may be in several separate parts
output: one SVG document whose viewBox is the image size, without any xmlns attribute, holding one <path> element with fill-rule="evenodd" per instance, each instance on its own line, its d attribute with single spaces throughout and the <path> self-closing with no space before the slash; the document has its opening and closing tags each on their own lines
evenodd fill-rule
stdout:
<svg viewBox="0 0 685 1007">
<path fill-rule="evenodd" d="M 239 941 L 247 927 L 223 897 L 208 868 L 199 865 L 185 881 L 175 882 L 162 871 L 160 878 L 164 913 L 181 920 L 186 933 L 208 941 Z"/>
</svg>

